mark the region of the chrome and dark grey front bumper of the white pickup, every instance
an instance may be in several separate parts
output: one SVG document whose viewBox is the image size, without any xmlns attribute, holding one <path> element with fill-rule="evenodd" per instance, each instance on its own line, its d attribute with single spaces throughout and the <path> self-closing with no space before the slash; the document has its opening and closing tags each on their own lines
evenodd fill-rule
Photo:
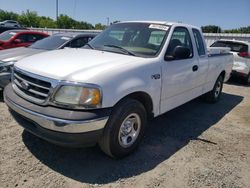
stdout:
<svg viewBox="0 0 250 188">
<path fill-rule="evenodd" d="M 64 146 L 80 147 L 98 142 L 111 113 L 111 109 L 89 112 L 39 106 L 19 97 L 11 84 L 4 90 L 4 101 L 27 131 Z"/>
</svg>

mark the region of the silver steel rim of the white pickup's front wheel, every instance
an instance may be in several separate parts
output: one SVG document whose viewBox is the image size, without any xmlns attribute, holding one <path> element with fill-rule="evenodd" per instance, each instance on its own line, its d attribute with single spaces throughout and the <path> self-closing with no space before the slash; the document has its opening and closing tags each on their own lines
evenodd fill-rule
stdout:
<svg viewBox="0 0 250 188">
<path fill-rule="evenodd" d="M 124 147 L 130 147 L 138 138 L 141 129 L 141 119 L 138 114 L 128 115 L 119 130 L 119 144 Z"/>
</svg>

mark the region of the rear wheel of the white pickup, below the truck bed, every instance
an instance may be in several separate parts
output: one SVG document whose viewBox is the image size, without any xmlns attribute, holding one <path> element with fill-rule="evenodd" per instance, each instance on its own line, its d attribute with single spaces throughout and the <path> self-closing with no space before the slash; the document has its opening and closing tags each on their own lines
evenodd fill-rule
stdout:
<svg viewBox="0 0 250 188">
<path fill-rule="evenodd" d="M 220 75 L 214 84 L 213 90 L 205 94 L 205 100 L 209 103 L 218 102 L 221 96 L 222 88 L 223 88 L 223 76 Z"/>
</svg>

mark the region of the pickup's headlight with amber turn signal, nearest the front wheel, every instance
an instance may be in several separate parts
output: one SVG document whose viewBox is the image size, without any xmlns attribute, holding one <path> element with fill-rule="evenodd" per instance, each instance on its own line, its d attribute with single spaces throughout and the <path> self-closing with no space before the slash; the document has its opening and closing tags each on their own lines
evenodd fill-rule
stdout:
<svg viewBox="0 0 250 188">
<path fill-rule="evenodd" d="M 100 107 L 101 100 L 97 87 L 61 86 L 54 96 L 55 103 L 84 108 Z"/>
</svg>

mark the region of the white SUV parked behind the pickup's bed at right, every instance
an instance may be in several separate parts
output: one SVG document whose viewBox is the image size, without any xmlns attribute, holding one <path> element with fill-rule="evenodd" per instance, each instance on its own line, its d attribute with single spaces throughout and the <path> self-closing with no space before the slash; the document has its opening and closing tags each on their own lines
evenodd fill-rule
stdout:
<svg viewBox="0 0 250 188">
<path fill-rule="evenodd" d="M 250 83 L 250 43 L 239 40 L 217 40 L 211 47 L 228 47 L 234 55 L 232 76 Z"/>
</svg>

